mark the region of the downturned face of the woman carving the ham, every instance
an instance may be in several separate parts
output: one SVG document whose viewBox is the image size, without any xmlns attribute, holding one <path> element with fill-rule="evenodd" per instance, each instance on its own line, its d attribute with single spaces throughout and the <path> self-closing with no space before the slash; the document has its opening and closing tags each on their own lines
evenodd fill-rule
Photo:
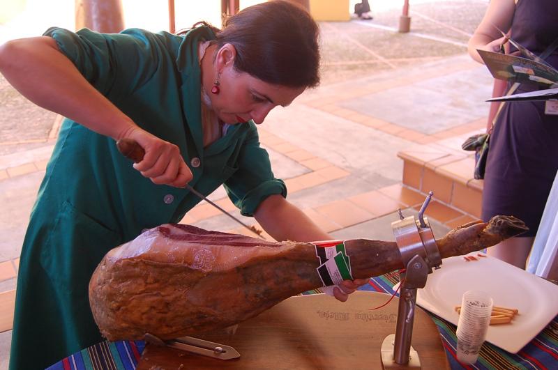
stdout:
<svg viewBox="0 0 558 370">
<path fill-rule="evenodd" d="M 271 109 L 287 107 L 305 90 L 268 84 L 246 72 L 238 72 L 233 67 L 234 56 L 230 56 L 219 68 L 220 92 L 209 93 L 213 111 L 225 123 L 244 123 L 252 119 L 260 124 Z M 219 63 L 219 56 L 216 61 Z M 211 91 L 211 87 L 206 91 Z"/>
</svg>

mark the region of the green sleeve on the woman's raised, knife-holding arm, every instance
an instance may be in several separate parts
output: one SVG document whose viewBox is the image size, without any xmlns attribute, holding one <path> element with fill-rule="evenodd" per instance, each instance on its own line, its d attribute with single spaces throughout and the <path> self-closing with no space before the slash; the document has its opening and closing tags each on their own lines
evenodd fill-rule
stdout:
<svg viewBox="0 0 558 370">
<path fill-rule="evenodd" d="M 61 52 L 103 95 L 127 94 L 149 80 L 169 55 L 169 36 L 140 29 L 122 33 L 77 32 L 50 28 L 43 36 L 54 38 Z"/>
</svg>

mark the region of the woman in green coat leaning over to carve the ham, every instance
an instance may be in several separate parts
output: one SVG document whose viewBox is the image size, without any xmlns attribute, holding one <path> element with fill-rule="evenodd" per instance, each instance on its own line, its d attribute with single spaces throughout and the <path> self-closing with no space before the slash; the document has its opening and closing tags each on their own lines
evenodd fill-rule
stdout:
<svg viewBox="0 0 558 370">
<path fill-rule="evenodd" d="M 286 1 L 252 6 L 223 30 L 183 35 L 49 29 L 0 48 L 0 71 L 66 117 L 31 213 L 17 280 L 10 369 L 43 369 L 102 340 L 87 289 L 106 252 L 179 222 L 224 184 L 276 240 L 324 240 L 273 176 L 256 125 L 319 83 L 318 28 Z M 134 139 L 131 164 L 115 140 Z M 335 288 L 347 300 L 357 284 Z"/>
</svg>

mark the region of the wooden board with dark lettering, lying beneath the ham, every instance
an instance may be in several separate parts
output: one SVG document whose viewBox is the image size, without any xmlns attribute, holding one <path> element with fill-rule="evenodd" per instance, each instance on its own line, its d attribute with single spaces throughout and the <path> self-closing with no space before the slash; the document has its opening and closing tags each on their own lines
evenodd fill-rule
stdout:
<svg viewBox="0 0 558 370">
<path fill-rule="evenodd" d="M 324 294 L 289 298 L 239 324 L 234 334 L 193 337 L 234 347 L 241 357 L 216 360 L 148 344 L 138 370 L 158 369 L 382 369 L 380 348 L 395 333 L 398 298 L 357 291 L 345 303 Z M 423 369 L 449 369 L 438 329 L 416 307 L 412 346 Z"/>
</svg>

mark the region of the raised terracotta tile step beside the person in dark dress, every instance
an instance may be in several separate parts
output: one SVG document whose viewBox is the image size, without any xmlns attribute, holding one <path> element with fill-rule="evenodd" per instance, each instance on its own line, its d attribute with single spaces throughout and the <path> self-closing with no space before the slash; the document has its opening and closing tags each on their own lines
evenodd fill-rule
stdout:
<svg viewBox="0 0 558 370">
<path fill-rule="evenodd" d="M 432 191 L 436 201 L 474 219 L 481 217 L 483 181 L 473 177 L 474 153 L 460 148 L 460 144 L 474 133 L 400 151 L 403 184 L 422 194 Z"/>
</svg>

